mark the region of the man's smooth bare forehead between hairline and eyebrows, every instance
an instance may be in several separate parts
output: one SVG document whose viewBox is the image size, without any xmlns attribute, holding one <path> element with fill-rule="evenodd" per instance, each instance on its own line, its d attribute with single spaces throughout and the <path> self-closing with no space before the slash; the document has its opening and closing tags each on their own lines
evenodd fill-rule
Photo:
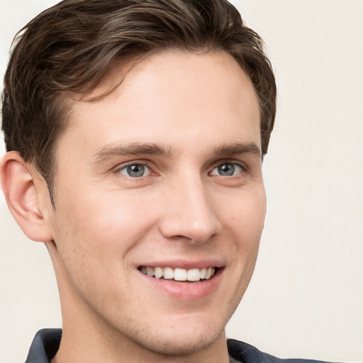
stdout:
<svg viewBox="0 0 363 363">
<path fill-rule="evenodd" d="M 260 146 L 255 89 L 225 52 L 160 52 L 117 64 L 90 96 L 116 85 L 101 101 L 74 102 L 62 137 L 89 149 L 126 139 L 176 149 L 201 139 L 211 147 L 230 141 Z"/>
</svg>

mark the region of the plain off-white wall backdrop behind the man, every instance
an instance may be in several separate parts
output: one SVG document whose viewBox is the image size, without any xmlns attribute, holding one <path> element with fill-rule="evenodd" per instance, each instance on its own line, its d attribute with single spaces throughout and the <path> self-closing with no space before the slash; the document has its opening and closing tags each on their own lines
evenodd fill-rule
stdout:
<svg viewBox="0 0 363 363">
<path fill-rule="evenodd" d="M 13 35 L 56 2 L 0 0 L 1 77 Z M 259 259 L 227 335 L 278 357 L 362 362 L 363 1 L 233 4 L 267 43 L 279 106 Z M 0 239 L 0 363 L 23 362 L 38 329 L 61 325 L 55 275 L 2 194 Z"/>
</svg>

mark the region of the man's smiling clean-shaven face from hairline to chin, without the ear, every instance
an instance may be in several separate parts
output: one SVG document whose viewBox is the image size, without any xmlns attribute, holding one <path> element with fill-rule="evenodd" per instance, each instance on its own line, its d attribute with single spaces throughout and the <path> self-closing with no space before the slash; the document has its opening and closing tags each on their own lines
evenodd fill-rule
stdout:
<svg viewBox="0 0 363 363">
<path fill-rule="evenodd" d="M 259 150 L 252 83 L 222 52 L 152 55 L 74 102 L 50 218 L 64 328 L 172 354 L 224 337 L 264 225 Z"/>
</svg>

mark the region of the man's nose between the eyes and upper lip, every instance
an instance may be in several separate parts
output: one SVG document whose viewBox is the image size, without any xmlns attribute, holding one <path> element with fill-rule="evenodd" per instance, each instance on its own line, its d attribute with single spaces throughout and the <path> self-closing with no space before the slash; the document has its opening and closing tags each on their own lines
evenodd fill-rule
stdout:
<svg viewBox="0 0 363 363">
<path fill-rule="evenodd" d="M 166 238 L 198 244 L 218 235 L 222 229 L 211 191 L 208 192 L 200 176 L 179 179 L 165 195 L 162 205 L 160 230 Z"/>
</svg>

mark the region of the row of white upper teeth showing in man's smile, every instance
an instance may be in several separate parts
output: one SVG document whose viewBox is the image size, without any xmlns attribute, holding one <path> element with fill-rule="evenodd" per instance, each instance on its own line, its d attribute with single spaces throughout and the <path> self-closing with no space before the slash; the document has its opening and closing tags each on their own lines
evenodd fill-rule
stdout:
<svg viewBox="0 0 363 363">
<path fill-rule="evenodd" d="M 216 272 L 215 267 L 203 267 L 202 269 L 180 269 L 179 267 L 141 267 L 143 274 L 160 279 L 174 279 L 177 281 L 199 281 L 211 279 Z"/>
</svg>

